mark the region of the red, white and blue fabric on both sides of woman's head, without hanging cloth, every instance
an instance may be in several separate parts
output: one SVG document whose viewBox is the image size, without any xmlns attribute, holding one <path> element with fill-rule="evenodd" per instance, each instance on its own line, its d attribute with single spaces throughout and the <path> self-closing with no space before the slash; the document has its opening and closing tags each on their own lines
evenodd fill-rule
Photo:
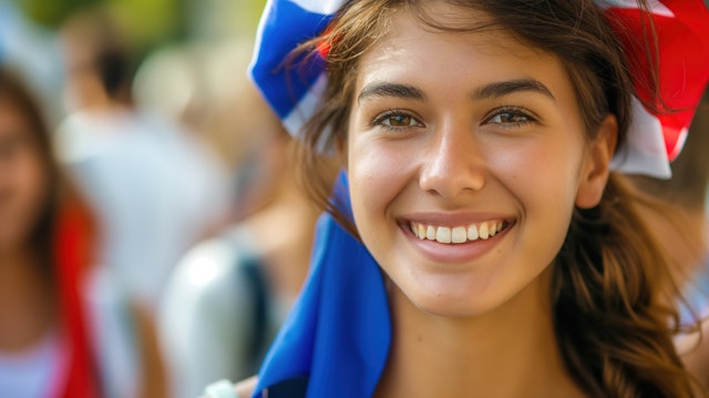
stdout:
<svg viewBox="0 0 709 398">
<path fill-rule="evenodd" d="M 650 1 L 659 49 L 657 65 L 646 53 L 647 18 L 635 0 L 596 0 L 619 34 L 630 60 L 636 99 L 628 141 L 614 160 L 614 169 L 669 177 L 669 162 L 681 151 L 701 93 L 709 83 L 709 11 L 702 0 Z M 325 62 L 314 59 L 297 72 L 284 60 L 305 40 L 320 34 L 346 0 L 269 0 L 261 19 L 250 75 L 264 98 L 298 135 L 312 115 L 327 84 Z M 630 32 L 630 34 L 626 33 Z M 655 69 L 653 67 L 656 67 Z M 650 92 L 651 72 L 659 72 L 662 103 Z M 641 103 L 666 110 L 654 114 Z"/>
</svg>

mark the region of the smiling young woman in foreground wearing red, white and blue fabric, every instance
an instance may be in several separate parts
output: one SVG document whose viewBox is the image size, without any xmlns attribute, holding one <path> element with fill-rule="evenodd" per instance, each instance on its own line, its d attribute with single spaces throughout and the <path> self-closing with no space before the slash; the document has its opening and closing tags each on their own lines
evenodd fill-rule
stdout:
<svg viewBox="0 0 709 398">
<path fill-rule="evenodd" d="M 308 174 L 332 217 L 254 397 L 697 396 L 672 346 L 672 265 L 610 171 L 614 155 L 637 157 L 643 74 L 612 25 L 637 12 L 650 29 L 649 14 L 577 0 L 314 3 L 271 9 L 254 79 L 287 126 L 307 120 L 306 170 L 330 145 L 345 172 L 335 200 Z M 682 3 L 706 22 L 701 1 Z M 296 9 L 309 33 L 278 24 Z M 317 37 L 282 61 L 269 28 Z M 631 68 L 656 60 L 637 57 Z"/>
</svg>

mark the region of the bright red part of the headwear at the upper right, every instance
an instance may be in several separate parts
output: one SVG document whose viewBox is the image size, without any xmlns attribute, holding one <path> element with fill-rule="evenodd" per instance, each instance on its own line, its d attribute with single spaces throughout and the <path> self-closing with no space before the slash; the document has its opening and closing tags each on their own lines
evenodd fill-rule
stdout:
<svg viewBox="0 0 709 398">
<path fill-rule="evenodd" d="M 709 83 L 709 10 L 702 0 L 662 0 L 674 18 L 653 14 L 657 41 L 649 18 L 633 8 L 609 8 L 606 14 L 623 42 L 643 102 L 659 110 L 665 147 L 670 161 L 679 154 L 685 135 L 705 88 Z M 659 49 L 658 64 L 650 64 L 647 43 Z M 651 91 L 650 71 L 657 67 L 661 99 Z M 650 113 L 651 110 L 647 110 Z"/>
</svg>

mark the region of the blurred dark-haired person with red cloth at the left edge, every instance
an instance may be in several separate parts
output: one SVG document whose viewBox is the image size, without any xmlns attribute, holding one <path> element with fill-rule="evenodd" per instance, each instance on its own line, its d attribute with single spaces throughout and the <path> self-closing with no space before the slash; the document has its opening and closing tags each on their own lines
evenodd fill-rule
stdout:
<svg viewBox="0 0 709 398">
<path fill-rule="evenodd" d="M 0 69 L 0 396 L 103 397 L 84 298 L 91 217 L 61 178 L 43 114 Z"/>
</svg>

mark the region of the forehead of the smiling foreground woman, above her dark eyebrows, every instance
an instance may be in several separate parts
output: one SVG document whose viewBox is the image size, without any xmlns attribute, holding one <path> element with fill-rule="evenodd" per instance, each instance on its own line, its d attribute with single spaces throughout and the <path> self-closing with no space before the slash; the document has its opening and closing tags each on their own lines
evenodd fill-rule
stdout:
<svg viewBox="0 0 709 398">
<path fill-rule="evenodd" d="M 399 9 L 388 22 L 386 34 L 362 55 L 359 88 L 378 80 L 443 80 L 455 86 L 534 78 L 568 89 L 571 80 L 557 57 L 491 25 L 491 18 L 482 11 L 436 1 L 427 3 L 423 12 L 451 30 L 431 27 L 411 11 Z"/>
</svg>

